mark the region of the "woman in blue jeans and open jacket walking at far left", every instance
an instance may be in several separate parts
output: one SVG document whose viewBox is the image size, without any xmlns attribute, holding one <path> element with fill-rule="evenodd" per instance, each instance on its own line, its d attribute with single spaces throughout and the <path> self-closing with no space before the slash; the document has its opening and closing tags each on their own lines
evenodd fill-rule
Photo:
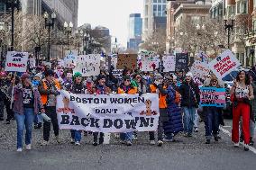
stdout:
<svg viewBox="0 0 256 170">
<path fill-rule="evenodd" d="M 22 84 L 14 86 L 15 80 L 13 80 L 13 85 L 9 89 L 11 94 L 14 86 L 14 116 L 17 122 L 17 151 L 23 151 L 23 130 L 26 129 L 25 144 L 26 149 L 30 150 L 32 144 L 32 123 L 34 120 L 34 115 L 38 112 L 44 112 L 41 95 L 36 88 L 32 87 L 30 80 L 30 75 L 24 73 L 21 76 Z"/>
</svg>

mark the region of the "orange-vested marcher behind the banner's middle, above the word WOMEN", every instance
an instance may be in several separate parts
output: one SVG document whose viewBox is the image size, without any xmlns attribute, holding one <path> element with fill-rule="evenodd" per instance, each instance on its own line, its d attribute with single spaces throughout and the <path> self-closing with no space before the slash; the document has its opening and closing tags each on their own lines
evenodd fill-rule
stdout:
<svg viewBox="0 0 256 170">
<path fill-rule="evenodd" d="M 137 87 L 131 85 L 130 76 L 123 76 L 123 83 L 118 87 L 117 94 L 137 94 Z M 127 133 L 121 133 L 120 138 L 127 146 L 132 146 L 133 143 L 133 131 Z"/>
</svg>

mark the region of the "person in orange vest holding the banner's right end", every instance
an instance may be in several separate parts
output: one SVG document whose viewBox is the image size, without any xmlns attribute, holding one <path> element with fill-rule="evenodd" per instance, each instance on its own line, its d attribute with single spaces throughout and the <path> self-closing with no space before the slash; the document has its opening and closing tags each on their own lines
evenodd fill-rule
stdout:
<svg viewBox="0 0 256 170">
<path fill-rule="evenodd" d="M 159 126 L 158 126 L 158 146 L 161 147 L 163 144 L 163 122 L 168 121 L 167 115 L 167 103 L 166 103 L 166 86 L 163 85 L 163 76 L 160 74 L 156 74 L 154 76 L 154 83 L 150 85 L 150 93 L 159 94 L 160 98 L 160 119 L 159 119 Z M 154 131 L 150 131 L 150 140 L 151 145 L 155 143 Z"/>
</svg>

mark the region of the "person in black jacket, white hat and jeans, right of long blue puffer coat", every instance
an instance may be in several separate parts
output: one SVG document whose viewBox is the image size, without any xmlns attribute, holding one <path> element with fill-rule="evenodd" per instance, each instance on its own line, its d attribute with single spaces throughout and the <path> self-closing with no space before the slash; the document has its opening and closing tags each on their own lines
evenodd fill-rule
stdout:
<svg viewBox="0 0 256 170">
<path fill-rule="evenodd" d="M 194 120 L 197 105 L 200 101 L 199 88 L 193 82 L 192 73 L 188 72 L 184 83 L 180 86 L 179 93 L 181 94 L 181 107 L 184 111 L 184 132 L 185 136 L 192 137 Z"/>
</svg>

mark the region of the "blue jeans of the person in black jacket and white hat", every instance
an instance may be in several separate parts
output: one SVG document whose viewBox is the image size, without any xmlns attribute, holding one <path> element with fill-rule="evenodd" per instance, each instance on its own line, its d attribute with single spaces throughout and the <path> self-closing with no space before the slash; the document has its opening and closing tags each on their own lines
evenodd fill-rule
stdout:
<svg viewBox="0 0 256 170">
<path fill-rule="evenodd" d="M 195 107 L 183 107 L 184 110 L 184 131 L 188 134 L 192 134 L 194 121 L 195 121 L 195 114 L 196 108 Z"/>
</svg>

